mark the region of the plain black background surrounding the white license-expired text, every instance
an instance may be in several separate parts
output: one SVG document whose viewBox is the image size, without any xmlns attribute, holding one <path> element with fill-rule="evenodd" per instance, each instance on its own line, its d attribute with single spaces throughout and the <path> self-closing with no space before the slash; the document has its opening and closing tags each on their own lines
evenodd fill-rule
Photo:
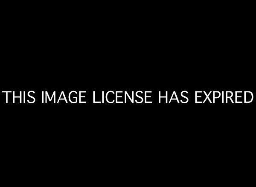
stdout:
<svg viewBox="0 0 256 187">
<path fill-rule="evenodd" d="M 193 96 L 255 94 L 247 7 L 42 7 L 3 13 L 1 91 L 152 90 L 154 104 L 2 102 L 5 176 L 131 184 L 250 178 L 255 101 L 196 105 Z M 157 91 L 183 90 L 187 105 L 157 104 Z"/>
</svg>

